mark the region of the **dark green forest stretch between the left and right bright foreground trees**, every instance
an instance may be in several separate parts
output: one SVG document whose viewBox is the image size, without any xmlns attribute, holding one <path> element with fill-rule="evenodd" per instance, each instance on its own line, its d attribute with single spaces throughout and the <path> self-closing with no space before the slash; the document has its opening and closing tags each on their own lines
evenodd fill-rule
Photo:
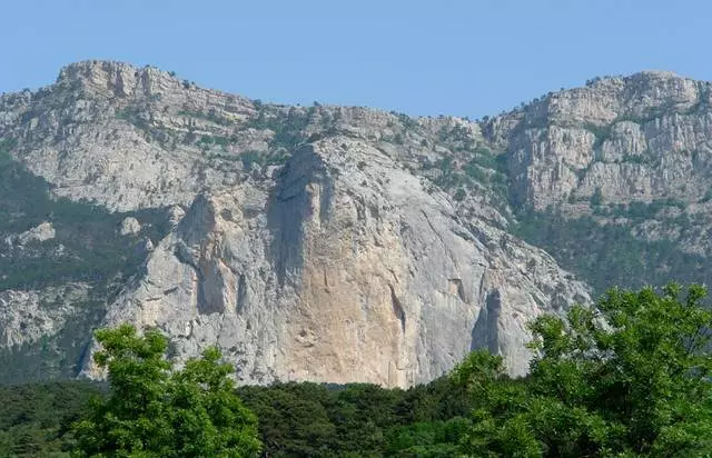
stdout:
<svg viewBox="0 0 712 458">
<path fill-rule="evenodd" d="M 456 449 L 471 402 L 448 378 L 408 390 L 374 385 L 240 387 L 269 457 L 438 457 Z"/>
</svg>

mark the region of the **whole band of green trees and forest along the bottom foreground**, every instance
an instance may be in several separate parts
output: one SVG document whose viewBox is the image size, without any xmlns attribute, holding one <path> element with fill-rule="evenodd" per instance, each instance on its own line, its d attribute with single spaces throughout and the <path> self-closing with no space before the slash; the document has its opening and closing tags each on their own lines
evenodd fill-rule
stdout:
<svg viewBox="0 0 712 458">
<path fill-rule="evenodd" d="M 102 329 L 107 385 L 0 387 L 0 456 L 708 457 L 705 295 L 612 289 L 596 307 L 531 323 L 525 378 L 479 350 L 407 390 L 235 387 L 215 348 L 177 370 L 157 330 Z"/>
</svg>

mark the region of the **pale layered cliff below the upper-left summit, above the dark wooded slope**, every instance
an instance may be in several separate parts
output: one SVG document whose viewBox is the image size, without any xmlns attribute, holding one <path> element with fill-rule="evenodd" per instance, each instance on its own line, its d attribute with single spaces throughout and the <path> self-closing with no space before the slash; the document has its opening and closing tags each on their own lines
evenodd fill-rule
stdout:
<svg viewBox="0 0 712 458">
<path fill-rule="evenodd" d="M 112 210 L 187 205 L 200 189 L 234 183 L 184 140 L 229 137 L 226 125 L 254 111 L 244 98 L 184 86 L 165 71 L 103 61 L 68 66 L 52 87 L 20 96 L 6 96 L 0 116 L 17 157 L 57 197 Z M 240 142 L 250 136 L 233 148 Z"/>
</svg>

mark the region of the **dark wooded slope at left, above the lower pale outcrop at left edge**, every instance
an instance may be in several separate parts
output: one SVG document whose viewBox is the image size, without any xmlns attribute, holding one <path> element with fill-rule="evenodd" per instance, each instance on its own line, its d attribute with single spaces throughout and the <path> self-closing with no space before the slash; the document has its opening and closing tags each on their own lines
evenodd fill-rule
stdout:
<svg viewBox="0 0 712 458">
<path fill-rule="evenodd" d="M 3 142 L 7 147 L 7 142 Z M 120 221 L 135 216 L 145 225 L 144 236 L 154 242 L 168 231 L 160 209 L 110 212 L 91 203 L 52 199 L 49 185 L 0 150 L 0 237 L 51 221 L 56 237 L 31 252 L 8 252 L 0 258 L 0 289 L 40 288 L 66 281 L 107 281 L 135 273 L 145 259 L 139 239 L 117 232 Z M 60 250 L 59 246 L 63 248 Z M 59 255 L 52 255 L 60 252 Z"/>
</svg>

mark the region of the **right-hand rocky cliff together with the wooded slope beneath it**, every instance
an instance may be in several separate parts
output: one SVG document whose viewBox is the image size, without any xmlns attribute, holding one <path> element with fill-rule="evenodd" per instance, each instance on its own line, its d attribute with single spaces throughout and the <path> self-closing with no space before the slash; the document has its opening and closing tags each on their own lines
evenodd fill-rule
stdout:
<svg viewBox="0 0 712 458">
<path fill-rule="evenodd" d="M 660 71 L 595 78 L 485 119 L 506 157 L 515 232 L 597 292 L 710 283 L 710 89 Z"/>
</svg>

